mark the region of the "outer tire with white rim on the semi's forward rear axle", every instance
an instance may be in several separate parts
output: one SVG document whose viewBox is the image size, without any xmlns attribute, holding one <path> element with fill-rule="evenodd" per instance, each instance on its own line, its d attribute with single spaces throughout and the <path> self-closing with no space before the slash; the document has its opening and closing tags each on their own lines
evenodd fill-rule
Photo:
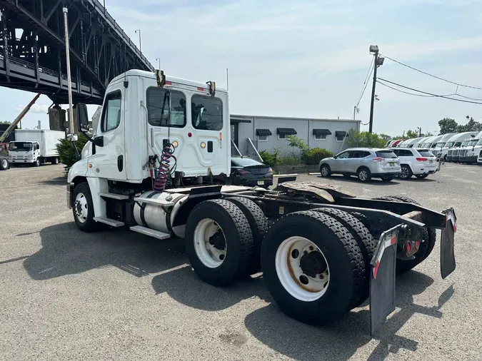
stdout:
<svg viewBox="0 0 482 361">
<path fill-rule="evenodd" d="M 205 227 L 210 223 L 217 225 L 221 233 L 217 230 L 209 237 L 209 242 L 204 239 L 204 244 L 197 242 L 206 238 L 208 228 Z M 211 243 L 211 240 L 215 241 L 214 235 L 218 235 L 217 239 L 223 237 L 224 250 Z M 246 215 L 228 200 L 199 203 L 186 222 L 186 253 L 194 272 L 210 285 L 231 285 L 246 277 L 253 259 L 253 235 Z M 219 257 L 215 259 L 216 254 Z"/>
</svg>

